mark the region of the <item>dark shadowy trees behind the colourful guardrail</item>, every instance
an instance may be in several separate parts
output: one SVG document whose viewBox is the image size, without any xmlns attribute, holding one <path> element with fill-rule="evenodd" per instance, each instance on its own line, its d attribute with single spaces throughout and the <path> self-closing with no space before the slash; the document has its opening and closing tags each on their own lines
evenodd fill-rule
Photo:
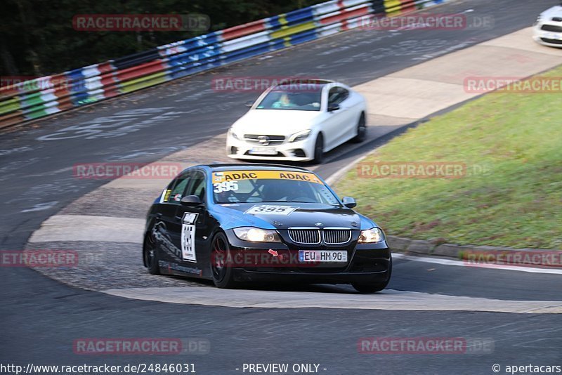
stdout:
<svg viewBox="0 0 562 375">
<path fill-rule="evenodd" d="M 319 3 L 315 0 L 4 0 L 1 75 L 43 76 L 95 64 L 207 32 L 80 32 L 79 14 L 209 16 L 208 32 Z"/>
</svg>

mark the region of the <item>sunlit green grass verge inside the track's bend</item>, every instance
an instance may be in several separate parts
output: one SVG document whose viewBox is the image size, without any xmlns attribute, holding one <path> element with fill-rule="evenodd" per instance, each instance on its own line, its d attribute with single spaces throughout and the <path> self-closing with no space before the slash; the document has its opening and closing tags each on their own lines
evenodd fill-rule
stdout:
<svg viewBox="0 0 562 375">
<path fill-rule="evenodd" d="M 542 76 L 562 77 L 562 67 Z M 462 178 L 336 184 L 389 235 L 562 249 L 562 93 L 490 93 L 410 129 L 363 162 L 462 162 Z M 485 172 L 482 171 L 485 170 Z"/>
</svg>

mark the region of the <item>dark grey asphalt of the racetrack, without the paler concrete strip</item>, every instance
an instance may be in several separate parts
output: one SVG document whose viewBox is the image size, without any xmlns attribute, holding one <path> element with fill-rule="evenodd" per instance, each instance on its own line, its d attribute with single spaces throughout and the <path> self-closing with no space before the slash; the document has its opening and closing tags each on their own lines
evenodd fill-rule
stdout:
<svg viewBox="0 0 562 375">
<path fill-rule="evenodd" d="M 360 84 L 527 27 L 540 11 L 554 3 L 456 1 L 434 12 L 473 9 L 472 15 L 491 16 L 494 27 L 346 32 L 4 133 L 0 136 L 0 248 L 22 249 L 42 221 L 105 183 L 73 178 L 73 164 L 152 162 L 226 131 L 245 112 L 242 103 L 257 93 L 212 91 L 212 78 L 302 74 Z M 152 113 L 147 108 L 152 108 Z M 131 110 L 137 112 L 124 112 Z M 176 114 L 157 117 L 170 111 Z M 115 121 L 116 115 L 121 116 L 120 121 Z M 98 117 L 110 117 L 110 121 L 87 124 Z M 68 129 L 70 126 L 90 127 Z M 372 147 L 365 145 L 353 154 L 343 154 L 318 172 L 327 177 Z M 75 355 L 72 341 L 86 337 L 192 336 L 208 338 L 211 343 L 210 355 L 188 356 L 180 361 L 195 363 L 199 374 L 241 373 L 236 368 L 244 362 L 320 363 L 320 372 L 325 374 L 492 374 L 495 363 L 502 365 L 501 373 L 508 364 L 562 364 L 562 318 L 556 314 L 175 305 L 73 289 L 20 268 L 0 270 L 0 285 L 4 302 L 0 307 L 3 364 L 178 362 L 176 356 Z M 558 275 L 397 261 L 389 288 L 562 301 L 560 286 Z M 486 355 L 362 355 L 357 342 L 365 336 L 492 338 L 495 349 Z"/>
</svg>

